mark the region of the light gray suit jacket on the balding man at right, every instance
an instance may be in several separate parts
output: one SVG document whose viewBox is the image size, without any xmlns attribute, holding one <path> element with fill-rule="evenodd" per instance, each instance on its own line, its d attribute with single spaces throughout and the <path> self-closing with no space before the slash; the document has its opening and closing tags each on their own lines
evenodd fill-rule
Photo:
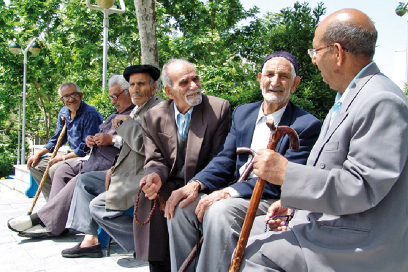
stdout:
<svg viewBox="0 0 408 272">
<path fill-rule="evenodd" d="M 301 209 L 290 225 L 308 267 L 285 270 L 408 271 L 407 104 L 372 64 L 328 129 L 327 115 L 307 166 L 289 162 L 281 200 Z"/>
</svg>

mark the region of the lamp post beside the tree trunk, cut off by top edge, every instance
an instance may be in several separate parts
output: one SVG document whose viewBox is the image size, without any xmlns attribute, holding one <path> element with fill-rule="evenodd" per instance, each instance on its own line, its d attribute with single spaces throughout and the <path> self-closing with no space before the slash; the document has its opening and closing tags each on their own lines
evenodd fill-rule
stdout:
<svg viewBox="0 0 408 272">
<path fill-rule="evenodd" d="M 117 9 L 114 4 L 114 0 L 96 0 L 96 5 L 91 5 L 91 0 L 86 0 L 86 6 L 92 10 L 99 10 L 104 13 L 104 60 L 102 67 L 102 93 L 105 93 L 106 81 L 107 81 L 107 70 L 108 70 L 108 29 L 109 29 L 109 14 L 112 13 L 124 13 L 126 8 L 124 6 L 124 1 L 119 0 L 120 9 Z"/>
</svg>

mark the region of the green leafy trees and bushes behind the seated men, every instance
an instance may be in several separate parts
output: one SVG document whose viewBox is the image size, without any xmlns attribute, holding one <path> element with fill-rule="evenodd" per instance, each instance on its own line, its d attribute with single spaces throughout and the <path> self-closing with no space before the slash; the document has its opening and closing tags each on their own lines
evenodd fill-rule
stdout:
<svg viewBox="0 0 408 272">
<path fill-rule="evenodd" d="M 140 63 L 134 3 L 124 1 L 126 12 L 109 16 L 108 77 Z M 170 58 L 187 59 L 196 64 L 206 94 L 228 99 L 235 107 L 262 99 L 257 80 L 261 63 L 272 51 L 286 50 L 297 58 L 302 76 L 292 101 L 323 119 L 335 93 L 323 83 L 307 54 L 323 5 L 312 9 L 308 3 L 295 3 L 262 18 L 257 13 L 257 7 L 243 9 L 239 0 L 156 2 L 159 66 Z M 41 47 L 38 55 L 28 53 L 29 137 L 45 143 L 53 135 L 62 106 L 57 89 L 66 81 L 75 81 L 84 100 L 104 118 L 114 111 L 101 94 L 102 21 L 103 13 L 89 10 L 83 0 L 11 0 L 8 6 L 0 0 L 0 132 L 3 150 L 10 150 L 1 152 L 0 161 L 15 160 L 19 129 L 15 113 L 21 104 L 23 56 L 8 51 L 13 38 L 25 47 L 37 37 Z M 45 122 L 35 116 L 45 116 Z"/>
</svg>

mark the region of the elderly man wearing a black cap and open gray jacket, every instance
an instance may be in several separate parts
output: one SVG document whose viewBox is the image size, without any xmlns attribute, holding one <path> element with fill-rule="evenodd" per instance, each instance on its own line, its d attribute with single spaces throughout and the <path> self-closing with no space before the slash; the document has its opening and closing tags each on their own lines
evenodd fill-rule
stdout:
<svg viewBox="0 0 408 272">
<path fill-rule="evenodd" d="M 141 118 L 162 99 L 154 95 L 160 70 L 152 65 L 132 65 L 123 72 L 129 81 L 129 92 L 136 105 L 131 113 L 118 115 L 114 127 L 123 139 L 122 149 L 114 166 L 107 171 L 89 172 L 80 176 L 71 202 L 67 228 L 85 233 L 77 246 L 62 251 L 64 257 L 102 257 L 97 237 L 98 225 L 126 251 L 134 249 L 133 217 L 123 214 L 134 205 L 143 175 L 144 145 Z M 123 122 L 119 125 L 120 122 Z M 106 183 L 105 183 L 106 182 Z M 105 186 L 104 186 L 105 184 Z M 106 192 L 105 192 L 106 191 Z"/>
</svg>

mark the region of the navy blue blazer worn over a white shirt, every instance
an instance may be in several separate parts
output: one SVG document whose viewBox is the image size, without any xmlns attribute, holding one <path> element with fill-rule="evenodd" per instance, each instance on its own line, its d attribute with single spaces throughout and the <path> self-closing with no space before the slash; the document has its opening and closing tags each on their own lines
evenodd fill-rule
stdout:
<svg viewBox="0 0 408 272">
<path fill-rule="evenodd" d="M 249 154 L 237 154 L 237 147 L 250 147 L 253 130 L 258 117 L 262 101 L 239 105 L 233 113 L 233 123 L 223 146 L 206 168 L 201 170 L 192 179 L 207 185 L 210 193 L 227 185 L 235 188 L 243 198 L 250 198 L 257 178 L 243 182 L 236 182 L 239 178 L 239 169 L 248 160 Z M 288 103 L 279 125 L 292 127 L 299 135 L 300 149 L 294 151 L 289 148 L 289 137 L 285 135 L 277 144 L 279 152 L 289 161 L 297 164 L 306 164 L 307 158 L 315 144 L 321 129 L 321 122 L 310 113 L 303 111 L 294 103 Z M 266 146 L 265 146 L 266 148 Z M 265 185 L 262 198 L 280 198 L 281 186 L 269 182 Z"/>
</svg>

